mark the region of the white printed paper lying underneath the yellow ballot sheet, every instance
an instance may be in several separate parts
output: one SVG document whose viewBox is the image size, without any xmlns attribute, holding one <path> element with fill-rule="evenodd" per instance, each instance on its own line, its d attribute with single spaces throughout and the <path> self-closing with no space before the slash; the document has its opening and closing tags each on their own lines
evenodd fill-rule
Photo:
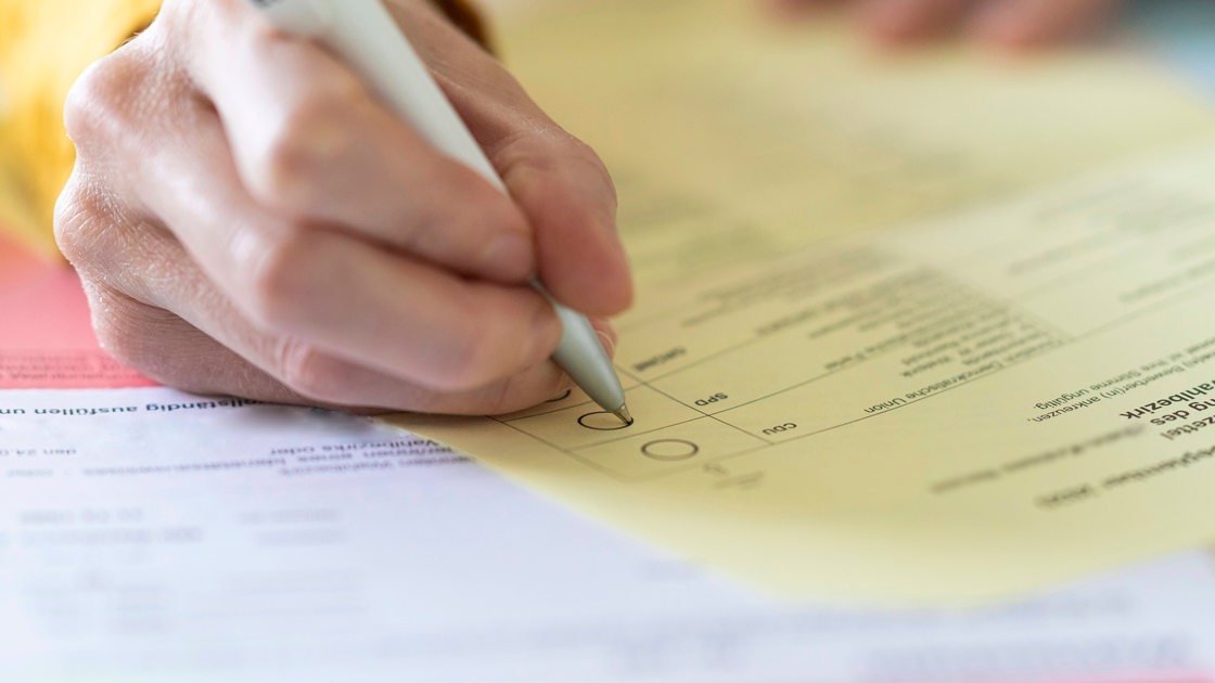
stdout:
<svg viewBox="0 0 1215 683">
<path fill-rule="evenodd" d="M 996 609 L 779 604 L 363 418 L 0 393 L 5 683 L 1180 683 L 1213 615 L 1199 553 Z"/>
</svg>

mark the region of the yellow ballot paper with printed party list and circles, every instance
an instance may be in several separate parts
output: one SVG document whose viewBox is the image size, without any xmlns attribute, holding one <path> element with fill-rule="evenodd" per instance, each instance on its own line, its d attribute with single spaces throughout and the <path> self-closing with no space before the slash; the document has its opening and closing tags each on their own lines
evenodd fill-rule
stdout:
<svg viewBox="0 0 1215 683">
<path fill-rule="evenodd" d="M 505 26 L 617 179 L 637 422 L 394 422 L 792 599 L 991 600 L 1215 538 L 1211 111 L 1114 50 L 894 57 L 748 10 Z"/>
</svg>

